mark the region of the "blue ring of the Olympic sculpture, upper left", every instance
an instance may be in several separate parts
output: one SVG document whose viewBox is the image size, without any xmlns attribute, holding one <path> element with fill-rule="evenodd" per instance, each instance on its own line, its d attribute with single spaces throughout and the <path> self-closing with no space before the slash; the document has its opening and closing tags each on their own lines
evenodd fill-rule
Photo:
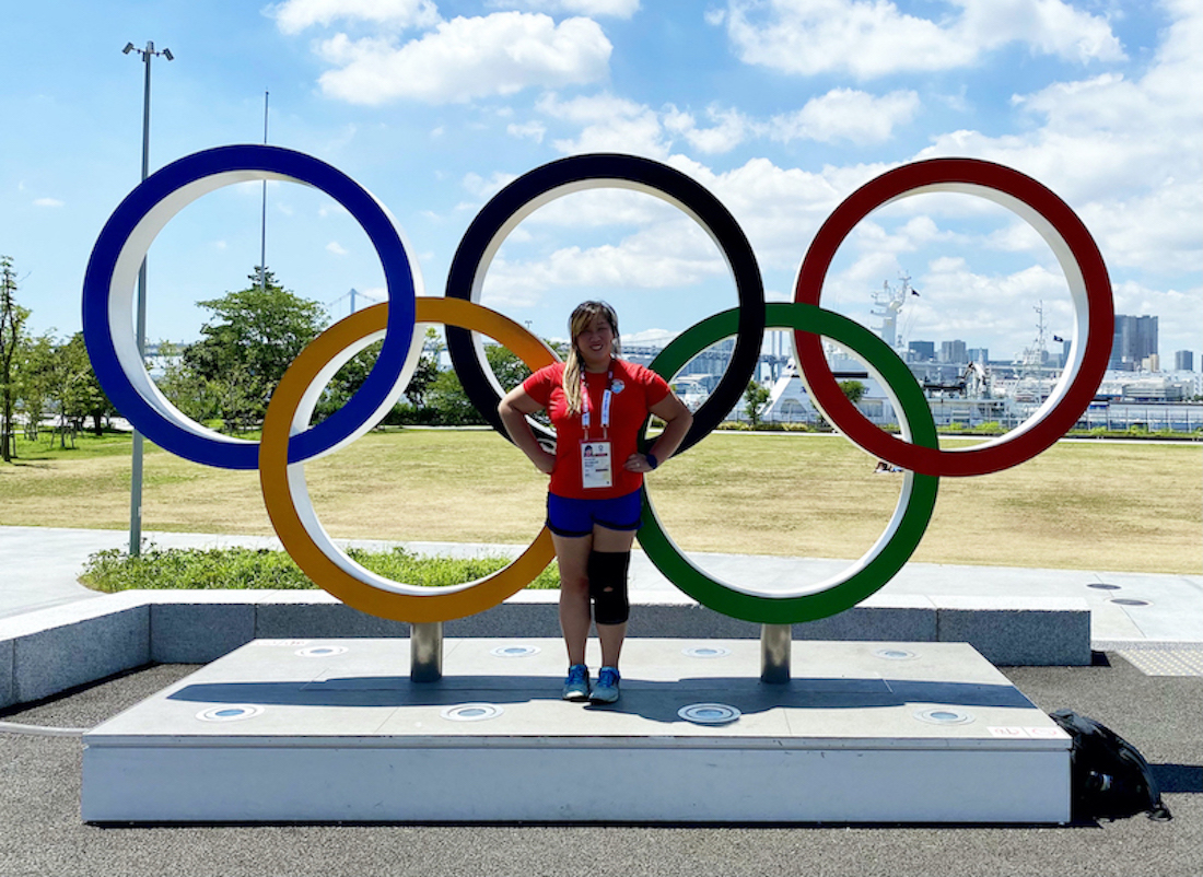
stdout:
<svg viewBox="0 0 1203 877">
<path fill-rule="evenodd" d="M 414 337 L 416 285 L 404 242 L 384 207 L 345 173 L 304 153 L 268 146 L 206 149 L 156 171 L 122 201 L 101 230 L 84 274 L 84 342 L 96 378 L 117 409 L 159 446 L 206 466 L 255 469 L 259 466 L 257 442 L 235 444 L 196 435 L 165 419 L 143 398 L 118 358 L 108 319 L 109 288 L 117 261 L 137 225 L 184 186 L 206 177 L 239 171 L 280 174 L 330 195 L 367 233 L 380 257 L 389 290 L 387 331 L 367 380 L 345 407 L 289 439 L 290 463 L 334 448 L 393 395 Z"/>
</svg>

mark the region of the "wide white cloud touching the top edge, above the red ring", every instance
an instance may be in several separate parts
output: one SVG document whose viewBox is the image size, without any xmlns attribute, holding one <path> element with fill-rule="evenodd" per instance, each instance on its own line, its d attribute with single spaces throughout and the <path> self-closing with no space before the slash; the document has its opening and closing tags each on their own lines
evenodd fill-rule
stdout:
<svg viewBox="0 0 1203 877">
<path fill-rule="evenodd" d="M 959 13 L 920 18 L 888 0 L 733 0 L 724 20 L 741 60 L 807 76 L 847 72 L 866 79 L 949 70 L 1011 42 L 1075 61 L 1124 58 L 1106 19 L 1062 0 L 944 5 Z"/>
</svg>

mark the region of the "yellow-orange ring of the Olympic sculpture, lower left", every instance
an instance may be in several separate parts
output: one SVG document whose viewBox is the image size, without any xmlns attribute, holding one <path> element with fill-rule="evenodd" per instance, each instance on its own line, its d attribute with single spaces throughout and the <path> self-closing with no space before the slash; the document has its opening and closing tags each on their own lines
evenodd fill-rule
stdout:
<svg viewBox="0 0 1203 877">
<path fill-rule="evenodd" d="M 432 622 L 462 618 L 496 606 L 529 585 L 556 556 L 544 527 L 505 569 L 475 582 L 426 588 L 390 582 L 363 569 L 326 535 L 304 486 L 304 463 L 288 462 L 289 434 L 308 421 L 303 403 L 319 377 L 332 377 L 331 362 L 345 350 L 366 346 L 386 327 L 387 304 L 375 304 L 339 320 L 315 338 L 289 366 L 263 417 L 259 481 L 263 504 L 285 551 L 310 580 L 361 612 L 393 621 Z M 538 337 L 496 310 L 458 298 L 417 298 L 417 322 L 442 322 L 487 334 L 514 351 L 531 369 L 557 361 Z M 320 391 L 325 381 L 318 386 Z M 310 405 L 312 408 L 312 405 Z"/>
</svg>

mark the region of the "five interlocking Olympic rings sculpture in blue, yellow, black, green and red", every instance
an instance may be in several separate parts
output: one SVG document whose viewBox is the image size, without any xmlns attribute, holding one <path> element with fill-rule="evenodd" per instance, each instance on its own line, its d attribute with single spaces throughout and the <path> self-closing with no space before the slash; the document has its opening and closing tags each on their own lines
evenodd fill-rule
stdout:
<svg viewBox="0 0 1203 877">
<path fill-rule="evenodd" d="M 176 213 L 206 192 L 260 179 L 310 185 L 342 205 L 380 257 L 389 303 L 340 320 L 297 356 L 272 395 L 262 439 L 255 443 L 205 428 L 159 392 L 134 338 L 132 302 L 138 266 Z M 905 470 L 894 515 L 864 557 L 826 581 L 774 593 L 719 581 L 695 567 L 666 534 L 645 485 L 640 545 L 678 588 L 725 615 L 786 624 L 851 609 L 884 586 L 918 547 L 935 508 L 940 476 L 998 472 L 1045 450 L 1077 422 L 1107 368 L 1114 306 L 1097 245 L 1055 194 L 1001 165 L 931 159 L 883 173 L 849 195 L 819 229 L 799 268 L 794 301 L 765 304 L 751 244 L 704 186 L 666 165 L 630 155 L 562 159 L 514 180 L 481 208 L 456 250 L 445 296 L 437 298 L 421 295 L 421 274 L 404 235 L 387 209 L 357 183 L 303 153 L 229 146 L 194 153 L 152 174 L 105 224 L 83 283 L 84 339 L 96 377 L 129 421 L 164 449 L 207 466 L 257 468 L 268 516 L 285 550 L 316 585 L 348 605 L 408 622 L 450 621 L 484 611 L 526 587 L 552 561 L 545 527 L 509 567 L 479 581 L 442 588 L 390 581 L 348 557 L 325 532 L 306 487 L 304 462 L 346 446 L 384 417 L 413 374 L 422 345 L 416 330 L 425 324 L 446 326 L 448 350 L 464 391 L 505 435 L 496 414 L 502 387 L 487 366 L 480 336 L 502 343 L 532 369 L 555 361 L 556 355 L 529 331 L 479 303 L 488 265 L 509 232 L 538 207 L 599 186 L 644 191 L 680 208 L 711 236 L 735 280 L 739 307 L 691 327 L 651 365 L 671 380 L 709 345 L 736 339 L 731 362 L 694 414 L 682 450 L 709 434 L 737 404 L 754 372 L 765 328 L 789 328 L 800 372 L 824 416 L 861 450 Z M 819 307 L 831 260 L 853 227 L 885 203 L 930 191 L 984 197 L 1025 219 L 1051 247 L 1074 304 L 1069 367 L 1048 402 L 1015 429 L 967 450 L 940 448 L 921 389 L 881 338 Z M 873 426 L 847 399 L 828 367 L 820 337 L 851 349 L 881 380 L 900 414 L 901 438 Z M 344 408 L 310 426 L 326 384 L 355 354 L 380 339 L 380 354 L 361 389 Z"/>
</svg>

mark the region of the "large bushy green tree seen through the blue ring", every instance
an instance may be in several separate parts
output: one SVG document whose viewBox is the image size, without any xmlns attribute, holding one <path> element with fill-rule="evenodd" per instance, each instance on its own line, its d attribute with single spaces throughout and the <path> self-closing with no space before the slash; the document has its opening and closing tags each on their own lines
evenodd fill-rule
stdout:
<svg viewBox="0 0 1203 877">
<path fill-rule="evenodd" d="M 247 289 L 197 302 L 213 319 L 182 355 L 182 367 L 206 381 L 189 386 L 203 387 L 198 398 L 214 402 L 226 432 L 262 420 L 289 365 L 326 326 L 325 308 L 284 289 L 271 271 L 256 267 L 249 279 Z"/>
</svg>

